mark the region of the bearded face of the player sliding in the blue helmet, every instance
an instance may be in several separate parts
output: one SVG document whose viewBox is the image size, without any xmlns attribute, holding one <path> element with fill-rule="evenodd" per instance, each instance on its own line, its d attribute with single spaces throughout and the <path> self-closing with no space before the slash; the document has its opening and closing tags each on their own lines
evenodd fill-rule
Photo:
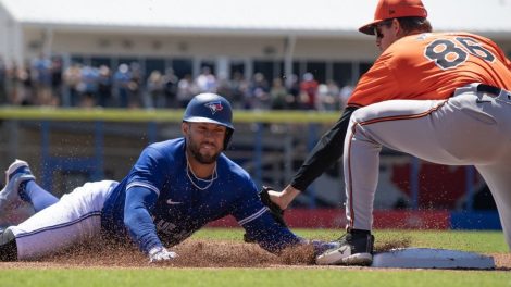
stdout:
<svg viewBox="0 0 511 287">
<path fill-rule="evenodd" d="M 200 163 L 214 163 L 224 148 L 226 127 L 211 123 L 183 123 L 187 150 Z"/>
</svg>

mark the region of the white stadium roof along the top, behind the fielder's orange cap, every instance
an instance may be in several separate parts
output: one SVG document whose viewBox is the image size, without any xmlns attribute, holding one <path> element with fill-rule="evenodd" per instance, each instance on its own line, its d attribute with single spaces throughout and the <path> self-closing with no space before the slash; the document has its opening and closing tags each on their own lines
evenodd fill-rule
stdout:
<svg viewBox="0 0 511 287">
<path fill-rule="evenodd" d="M 376 0 L 0 0 L 23 26 L 59 30 L 362 36 Z M 435 30 L 511 37 L 511 0 L 423 0 Z"/>
</svg>

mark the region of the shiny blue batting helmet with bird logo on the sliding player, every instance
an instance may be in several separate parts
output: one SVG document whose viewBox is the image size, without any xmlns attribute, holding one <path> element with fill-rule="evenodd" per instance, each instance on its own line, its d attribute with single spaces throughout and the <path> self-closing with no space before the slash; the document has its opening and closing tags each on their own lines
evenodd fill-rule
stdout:
<svg viewBox="0 0 511 287">
<path fill-rule="evenodd" d="M 230 103 L 216 93 L 199 93 L 195 96 L 186 107 L 183 122 L 212 123 L 227 128 L 224 140 L 224 149 L 227 148 L 234 133 L 233 109 Z"/>
</svg>

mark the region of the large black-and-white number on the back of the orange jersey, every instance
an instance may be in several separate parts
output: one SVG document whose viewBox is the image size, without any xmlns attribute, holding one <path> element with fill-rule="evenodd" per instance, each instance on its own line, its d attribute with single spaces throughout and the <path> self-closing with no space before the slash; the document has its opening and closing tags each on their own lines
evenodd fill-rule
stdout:
<svg viewBox="0 0 511 287">
<path fill-rule="evenodd" d="M 461 45 L 463 48 L 459 47 Z M 452 39 L 438 39 L 426 46 L 424 55 L 441 70 L 457 67 L 464 63 L 471 55 L 481 58 L 488 62 L 495 61 L 495 55 L 483 48 L 478 41 L 471 37 L 457 37 Z"/>
</svg>

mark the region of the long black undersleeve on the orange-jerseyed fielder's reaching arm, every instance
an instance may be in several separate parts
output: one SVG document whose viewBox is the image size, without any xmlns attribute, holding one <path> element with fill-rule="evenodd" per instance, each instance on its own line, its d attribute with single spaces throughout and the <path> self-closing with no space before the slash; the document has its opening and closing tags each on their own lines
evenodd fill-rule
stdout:
<svg viewBox="0 0 511 287">
<path fill-rule="evenodd" d="M 342 157 L 349 120 L 356 110 L 356 107 L 346 108 L 334 126 L 321 137 L 292 177 L 290 182 L 292 187 L 301 191 L 306 190 L 315 178 Z"/>
</svg>

